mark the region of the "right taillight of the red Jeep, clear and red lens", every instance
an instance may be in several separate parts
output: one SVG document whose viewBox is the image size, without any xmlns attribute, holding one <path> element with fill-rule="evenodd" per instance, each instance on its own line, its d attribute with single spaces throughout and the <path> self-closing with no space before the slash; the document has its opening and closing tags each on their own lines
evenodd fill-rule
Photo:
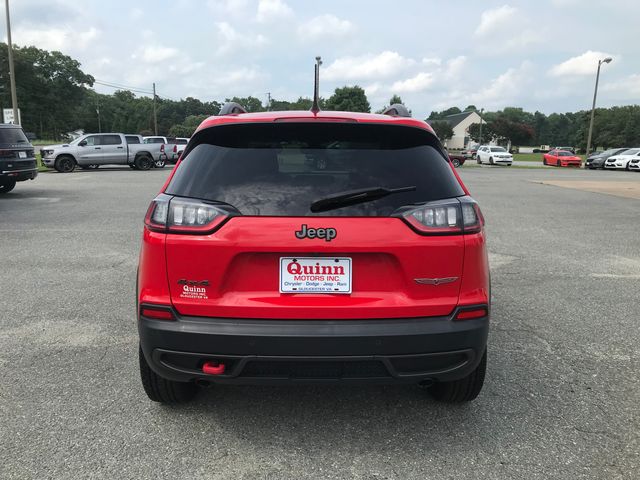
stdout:
<svg viewBox="0 0 640 480">
<path fill-rule="evenodd" d="M 420 233 L 427 235 L 477 233 L 484 225 L 480 207 L 470 197 L 425 203 L 402 216 Z"/>
</svg>

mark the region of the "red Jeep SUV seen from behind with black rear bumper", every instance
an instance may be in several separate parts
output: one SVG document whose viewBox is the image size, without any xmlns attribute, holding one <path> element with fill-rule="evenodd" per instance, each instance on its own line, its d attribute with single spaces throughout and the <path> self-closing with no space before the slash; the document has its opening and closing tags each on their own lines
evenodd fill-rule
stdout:
<svg viewBox="0 0 640 480">
<path fill-rule="evenodd" d="M 150 399 L 287 382 L 476 398 L 484 220 L 433 130 L 393 107 L 232 104 L 200 125 L 145 218 L 137 315 Z"/>
</svg>

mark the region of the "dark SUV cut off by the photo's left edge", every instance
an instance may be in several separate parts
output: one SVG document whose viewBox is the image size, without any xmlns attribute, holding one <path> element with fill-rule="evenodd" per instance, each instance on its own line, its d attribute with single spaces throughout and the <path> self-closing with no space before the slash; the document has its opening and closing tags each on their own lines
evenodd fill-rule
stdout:
<svg viewBox="0 0 640 480">
<path fill-rule="evenodd" d="M 0 124 L 0 194 L 9 193 L 17 182 L 37 176 L 33 145 L 20 125 Z"/>
</svg>

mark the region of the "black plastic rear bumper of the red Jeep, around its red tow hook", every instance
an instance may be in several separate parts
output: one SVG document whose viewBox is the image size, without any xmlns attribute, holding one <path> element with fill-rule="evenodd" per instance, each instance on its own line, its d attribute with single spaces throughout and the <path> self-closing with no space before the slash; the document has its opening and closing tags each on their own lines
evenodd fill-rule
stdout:
<svg viewBox="0 0 640 480">
<path fill-rule="evenodd" d="M 247 320 L 141 317 L 147 362 L 174 381 L 417 383 L 468 375 L 486 348 L 489 317 Z M 224 373 L 202 372 L 204 362 Z"/>
</svg>

